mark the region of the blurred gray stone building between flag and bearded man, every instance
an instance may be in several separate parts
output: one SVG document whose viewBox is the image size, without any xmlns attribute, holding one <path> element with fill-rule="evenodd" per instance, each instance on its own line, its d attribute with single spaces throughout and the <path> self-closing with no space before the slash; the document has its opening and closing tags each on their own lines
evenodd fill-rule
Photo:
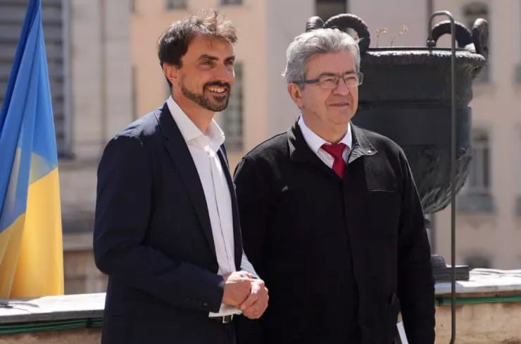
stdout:
<svg viewBox="0 0 521 344">
<path fill-rule="evenodd" d="M 0 102 L 26 8 L 27 0 L 0 0 Z M 132 121 L 130 1 L 42 0 L 42 17 L 60 158 L 65 293 L 104 290 L 92 257 L 96 167 L 108 138 Z"/>
</svg>

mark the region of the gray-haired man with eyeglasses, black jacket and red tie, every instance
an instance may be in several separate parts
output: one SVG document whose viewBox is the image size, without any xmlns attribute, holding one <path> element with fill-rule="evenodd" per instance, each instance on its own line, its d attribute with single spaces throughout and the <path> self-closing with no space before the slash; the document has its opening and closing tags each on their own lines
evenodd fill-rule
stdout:
<svg viewBox="0 0 521 344">
<path fill-rule="evenodd" d="M 434 343 L 429 243 L 406 156 L 350 123 L 363 82 L 358 44 L 336 29 L 299 35 L 284 78 L 299 118 L 234 176 L 244 250 L 270 285 L 249 335 L 390 344 L 401 311 L 410 344 Z"/>
</svg>

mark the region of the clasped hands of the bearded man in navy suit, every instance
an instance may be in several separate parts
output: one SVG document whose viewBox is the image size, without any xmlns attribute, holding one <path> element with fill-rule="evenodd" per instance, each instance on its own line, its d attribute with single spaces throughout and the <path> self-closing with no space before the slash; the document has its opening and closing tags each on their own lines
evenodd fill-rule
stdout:
<svg viewBox="0 0 521 344">
<path fill-rule="evenodd" d="M 264 281 L 253 278 L 246 271 L 235 271 L 222 276 L 225 280 L 225 292 L 222 303 L 240 308 L 249 319 L 258 319 L 268 307 L 268 288 Z"/>
</svg>

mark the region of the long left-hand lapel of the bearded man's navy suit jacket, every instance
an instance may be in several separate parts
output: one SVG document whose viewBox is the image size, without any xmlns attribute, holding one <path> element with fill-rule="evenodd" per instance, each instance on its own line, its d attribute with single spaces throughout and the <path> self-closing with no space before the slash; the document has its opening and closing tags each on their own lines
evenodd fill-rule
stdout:
<svg viewBox="0 0 521 344">
<path fill-rule="evenodd" d="M 203 185 L 201 185 L 201 180 L 199 180 L 199 174 L 197 173 L 194 159 L 192 159 L 192 154 L 190 154 L 187 143 L 184 142 L 184 138 L 166 103 L 158 115 L 158 122 L 168 154 L 172 157 L 172 163 L 179 171 L 184 186 L 187 188 L 206 240 L 208 240 L 208 246 L 215 255 L 215 243 L 213 242 L 212 227 L 210 216 L 208 215 L 208 206 L 204 197 Z M 215 255 L 215 257 L 217 256 Z"/>
</svg>

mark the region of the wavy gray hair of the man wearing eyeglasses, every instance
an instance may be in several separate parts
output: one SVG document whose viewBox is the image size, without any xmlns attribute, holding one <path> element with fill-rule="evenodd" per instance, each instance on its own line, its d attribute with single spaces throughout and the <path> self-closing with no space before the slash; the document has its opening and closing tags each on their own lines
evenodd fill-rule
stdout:
<svg viewBox="0 0 521 344">
<path fill-rule="evenodd" d="M 317 29 L 305 32 L 293 40 L 286 51 L 286 70 L 282 77 L 287 83 L 306 78 L 306 62 L 316 54 L 349 51 L 355 60 L 356 72 L 360 71 L 358 43 L 338 29 Z"/>
</svg>

